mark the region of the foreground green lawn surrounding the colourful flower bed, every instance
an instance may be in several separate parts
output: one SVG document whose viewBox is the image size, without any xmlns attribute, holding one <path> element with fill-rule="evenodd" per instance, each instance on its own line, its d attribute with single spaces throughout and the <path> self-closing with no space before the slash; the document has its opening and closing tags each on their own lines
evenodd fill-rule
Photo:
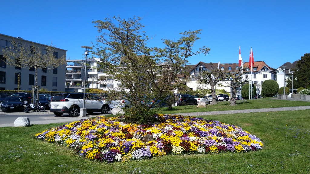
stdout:
<svg viewBox="0 0 310 174">
<path fill-rule="evenodd" d="M 309 110 L 201 117 L 240 126 L 263 141 L 263 150 L 241 154 L 168 155 L 151 160 L 106 164 L 84 159 L 66 147 L 34 138 L 36 133 L 62 124 L 5 127 L 0 128 L 0 173 L 310 172 Z"/>
</svg>

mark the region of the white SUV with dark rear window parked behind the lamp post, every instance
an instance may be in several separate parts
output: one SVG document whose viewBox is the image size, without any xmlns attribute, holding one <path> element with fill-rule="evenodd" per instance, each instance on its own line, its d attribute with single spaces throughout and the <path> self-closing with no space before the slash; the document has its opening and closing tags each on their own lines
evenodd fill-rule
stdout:
<svg viewBox="0 0 310 174">
<path fill-rule="evenodd" d="M 101 112 L 107 114 L 110 111 L 108 102 L 102 101 L 100 96 L 93 94 L 85 94 L 86 112 Z M 69 113 L 70 116 L 77 116 L 83 108 L 83 93 L 60 93 L 55 94 L 51 99 L 50 112 L 54 112 L 56 116 Z"/>
</svg>

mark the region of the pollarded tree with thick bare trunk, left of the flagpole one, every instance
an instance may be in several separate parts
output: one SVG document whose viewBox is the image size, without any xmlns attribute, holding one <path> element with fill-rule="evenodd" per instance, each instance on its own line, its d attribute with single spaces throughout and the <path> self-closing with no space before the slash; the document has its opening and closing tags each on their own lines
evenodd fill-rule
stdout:
<svg viewBox="0 0 310 174">
<path fill-rule="evenodd" d="M 210 71 L 204 71 L 200 74 L 199 77 L 197 77 L 197 80 L 199 82 L 199 86 L 205 84 L 210 85 L 210 91 L 212 95 L 212 105 L 217 104 L 216 103 L 216 94 L 215 94 L 215 86 L 221 85 L 219 84 L 220 81 L 223 79 L 227 79 L 228 75 L 227 72 L 224 72 L 218 68 L 212 69 Z"/>
</svg>

